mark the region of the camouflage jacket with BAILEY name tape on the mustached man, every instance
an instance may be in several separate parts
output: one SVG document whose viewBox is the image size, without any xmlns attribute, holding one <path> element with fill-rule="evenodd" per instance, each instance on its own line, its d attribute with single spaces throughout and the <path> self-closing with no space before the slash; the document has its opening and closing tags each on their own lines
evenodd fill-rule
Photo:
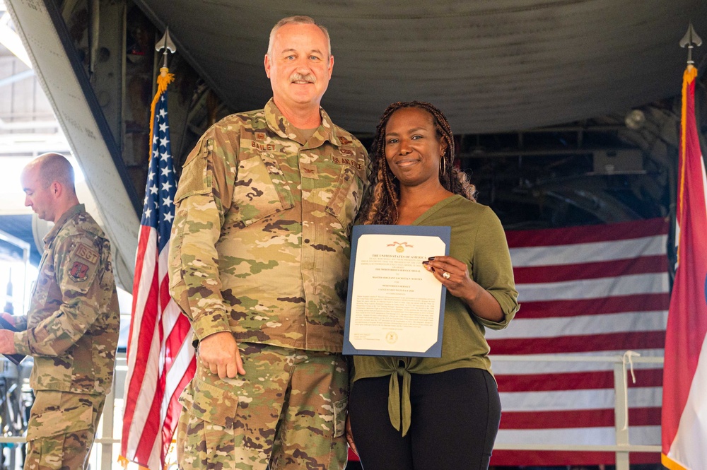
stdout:
<svg viewBox="0 0 707 470">
<path fill-rule="evenodd" d="M 368 155 L 322 124 L 304 141 L 270 100 L 214 124 L 175 196 L 170 293 L 204 339 L 341 351 L 349 233 Z"/>
</svg>

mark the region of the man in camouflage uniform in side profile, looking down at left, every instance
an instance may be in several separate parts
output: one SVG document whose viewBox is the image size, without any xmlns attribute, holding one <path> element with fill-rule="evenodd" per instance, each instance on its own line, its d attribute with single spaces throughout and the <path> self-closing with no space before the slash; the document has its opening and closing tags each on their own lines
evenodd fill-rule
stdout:
<svg viewBox="0 0 707 470">
<path fill-rule="evenodd" d="M 25 470 L 86 469 L 120 324 L 110 242 L 78 204 L 74 170 L 62 155 L 36 158 L 21 180 L 25 205 L 54 221 L 30 310 L 25 317 L 4 313 L 18 332 L 0 330 L 0 353 L 35 360 Z"/>
</svg>

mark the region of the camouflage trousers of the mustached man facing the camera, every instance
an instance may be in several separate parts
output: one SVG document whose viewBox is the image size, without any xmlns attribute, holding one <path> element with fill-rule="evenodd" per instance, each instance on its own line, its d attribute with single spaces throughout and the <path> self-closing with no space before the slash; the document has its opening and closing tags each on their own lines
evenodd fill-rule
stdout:
<svg viewBox="0 0 707 470">
<path fill-rule="evenodd" d="M 197 360 L 180 396 L 180 469 L 344 469 L 344 358 L 266 344 L 239 347 L 244 376 L 219 379 Z"/>
</svg>

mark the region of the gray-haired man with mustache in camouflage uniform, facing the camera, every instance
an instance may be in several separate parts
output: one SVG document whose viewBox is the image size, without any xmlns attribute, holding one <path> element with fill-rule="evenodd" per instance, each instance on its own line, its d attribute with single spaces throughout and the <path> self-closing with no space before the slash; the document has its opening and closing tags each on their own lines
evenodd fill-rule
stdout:
<svg viewBox="0 0 707 470">
<path fill-rule="evenodd" d="M 368 155 L 320 107 L 325 28 L 281 20 L 264 64 L 273 98 L 206 131 L 175 196 L 170 291 L 199 352 L 181 469 L 346 464 L 344 295 Z"/>
</svg>

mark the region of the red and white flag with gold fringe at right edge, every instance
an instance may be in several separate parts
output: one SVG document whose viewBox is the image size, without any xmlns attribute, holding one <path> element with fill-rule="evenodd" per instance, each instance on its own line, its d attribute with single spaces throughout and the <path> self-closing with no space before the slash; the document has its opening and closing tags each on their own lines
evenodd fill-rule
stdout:
<svg viewBox="0 0 707 470">
<path fill-rule="evenodd" d="M 707 177 L 695 124 L 697 69 L 682 83 L 677 271 L 665 335 L 662 464 L 707 469 Z"/>
</svg>

